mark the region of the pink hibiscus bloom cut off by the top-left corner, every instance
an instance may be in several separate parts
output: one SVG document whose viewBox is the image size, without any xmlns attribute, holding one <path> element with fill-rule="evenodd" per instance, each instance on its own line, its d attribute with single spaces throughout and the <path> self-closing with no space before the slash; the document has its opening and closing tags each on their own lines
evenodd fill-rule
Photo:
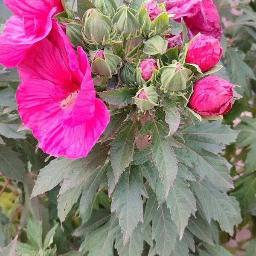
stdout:
<svg viewBox="0 0 256 256">
<path fill-rule="evenodd" d="M 0 37 L 0 64 L 16 67 L 26 51 L 52 29 L 52 17 L 64 11 L 61 0 L 4 0 L 15 14 Z"/>
</svg>

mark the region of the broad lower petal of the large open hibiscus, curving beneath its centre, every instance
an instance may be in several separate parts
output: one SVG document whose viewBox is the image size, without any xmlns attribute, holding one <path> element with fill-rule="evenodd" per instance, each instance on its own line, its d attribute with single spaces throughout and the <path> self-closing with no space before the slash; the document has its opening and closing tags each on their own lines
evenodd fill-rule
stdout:
<svg viewBox="0 0 256 256">
<path fill-rule="evenodd" d="M 19 114 L 47 154 L 85 157 L 108 125 L 108 110 L 96 99 L 93 118 L 66 130 L 62 125 L 65 113 L 58 104 L 63 99 L 59 97 L 61 93 L 63 90 L 49 81 L 31 80 L 31 83 L 20 84 L 16 95 Z"/>
</svg>

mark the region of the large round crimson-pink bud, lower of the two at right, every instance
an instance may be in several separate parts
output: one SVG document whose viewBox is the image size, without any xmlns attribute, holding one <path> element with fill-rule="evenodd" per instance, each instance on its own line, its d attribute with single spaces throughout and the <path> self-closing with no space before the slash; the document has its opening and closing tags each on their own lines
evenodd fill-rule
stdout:
<svg viewBox="0 0 256 256">
<path fill-rule="evenodd" d="M 219 116 L 232 107 L 233 84 L 218 76 L 200 79 L 189 99 L 189 108 L 201 116 Z"/>
</svg>

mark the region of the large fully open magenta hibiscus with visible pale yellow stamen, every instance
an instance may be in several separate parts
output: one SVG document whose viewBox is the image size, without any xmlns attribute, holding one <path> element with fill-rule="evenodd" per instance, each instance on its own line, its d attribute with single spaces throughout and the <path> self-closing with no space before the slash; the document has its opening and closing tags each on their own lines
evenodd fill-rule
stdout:
<svg viewBox="0 0 256 256">
<path fill-rule="evenodd" d="M 18 66 L 22 83 L 17 90 L 18 111 L 39 147 L 55 157 L 85 157 L 110 115 L 96 99 L 86 53 L 78 57 L 57 20 L 48 38 L 34 44 Z"/>
</svg>

